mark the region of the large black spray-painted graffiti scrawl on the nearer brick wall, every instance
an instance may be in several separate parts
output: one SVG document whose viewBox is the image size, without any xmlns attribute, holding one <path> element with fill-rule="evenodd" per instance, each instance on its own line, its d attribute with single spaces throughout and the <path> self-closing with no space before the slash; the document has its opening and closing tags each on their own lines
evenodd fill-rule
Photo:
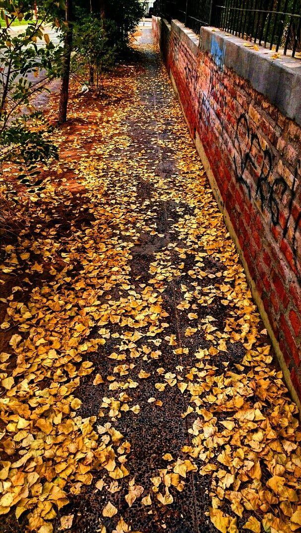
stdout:
<svg viewBox="0 0 301 533">
<path fill-rule="evenodd" d="M 291 187 L 282 176 L 272 177 L 273 156 L 269 147 L 262 148 L 256 132 L 254 132 L 245 114 L 241 114 L 237 122 L 234 142 L 237 154 L 234 156 L 234 167 L 237 181 L 242 183 L 248 192 L 249 199 L 259 198 L 262 212 L 267 211 L 274 226 L 280 223 L 280 210 L 284 196 L 288 204 L 283 237 L 287 237 L 292 225 L 292 252 L 297 256 L 296 235 L 301 222 L 301 211 L 292 219 L 292 207 L 296 197 L 296 186 L 301 181 L 301 159 L 295 169 Z"/>
</svg>

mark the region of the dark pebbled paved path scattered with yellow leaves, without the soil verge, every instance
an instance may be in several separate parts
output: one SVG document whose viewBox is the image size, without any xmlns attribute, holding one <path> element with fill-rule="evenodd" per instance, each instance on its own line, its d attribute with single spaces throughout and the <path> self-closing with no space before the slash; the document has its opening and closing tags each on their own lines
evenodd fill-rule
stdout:
<svg viewBox="0 0 301 533">
<path fill-rule="evenodd" d="M 48 256 L 59 250 L 66 264 L 66 272 L 61 266 L 51 273 L 49 289 L 46 281 L 43 286 L 44 294 L 58 294 L 53 320 L 66 325 L 63 333 L 55 328 L 57 346 L 63 350 L 77 316 L 86 317 L 89 338 L 99 344 L 90 353 L 83 344 L 76 361 L 91 361 L 93 372 L 81 367 L 73 392 L 82 401 L 77 416 L 94 417 L 97 445 L 86 425 L 84 441 L 92 451 L 76 455 L 77 466 L 70 442 L 63 467 L 60 445 L 54 456 L 47 452 L 49 479 L 51 461 L 55 472 L 67 461 L 70 469 L 67 484 L 63 474 L 55 481 L 70 503 L 53 518 L 54 531 L 61 519 L 72 522 L 71 533 L 207 533 L 216 527 L 237 533 L 248 520 L 258 533 L 261 522 L 265 531 L 271 524 L 273 531 L 290 531 L 301 472 L 296 410 L 273 366 L 269 339 L 149 29 L 136 48 L 138 60 L 120 80 L 128 88 L 126 103 L 109 106 L 105 117 L 96 103 L 85 108 L 79 101 L 85 111 L 80 134 L 63 140 L 69 163 L 58 167 L 74 168 L 74 192 L 86 190 L 80 217 L 75 204 L 61 227 L 54 215 L 50 231 L 47 215 L 47 231 L 35 236 L 35 249 L 47 239 Z M 74 123 L 75 117 L 73 110 Z M 74 154 L 82 154 L 80 164 Z M 59 245 L 52 245 L 53 235 Z M 47 298 L 40 303 L 38 291 L 35 312 L 43 317 Z M 62 314 L 65 303 L 69 314 Z M 47 327 L 43 322 L 31 338 L 47 338 Z M 87 326 L 76 327 L 76 337 L 83 336 Z M 67 383 L 67 370 L 77 375 L 78 365 L 65 362 L 54 389 Z M 50 387 L 54 369 L 45 365 L 48 381 L 42 383 Z M 68 427 L 75 420 L 82 427 L 68 413 Z M 40 427 L 46 431 L 45 422 Z M 50 425 L 50 434 L 55 431 Z M 44 439 L 50 442 L 46 434 Z M 282 491 L 278 499 L 279 483 L 294 495 Z M 25 531 L 22 517 L 21 526 L 6 531 Z"/>
</svg>

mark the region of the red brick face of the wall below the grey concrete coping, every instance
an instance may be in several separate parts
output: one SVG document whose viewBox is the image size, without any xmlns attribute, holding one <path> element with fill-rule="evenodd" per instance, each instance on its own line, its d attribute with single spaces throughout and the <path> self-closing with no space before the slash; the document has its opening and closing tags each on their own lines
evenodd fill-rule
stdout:
<svg viewBox="0 0 301 533">
<path fill-rule="evenodd" d="M 157 31 L 159 34 L 158 29 Z M 173 53 L 175 46 L 179 52 L 177 60 Z M 296 369 L 299 366 L 300 351 L 296 340 L 301 336 L 301 287 L 297 281 L 298 269 L 301 270 L 301 231 L 298 229 L 295 232 L 295 224 L 300 220 L 301 212 L 299 175 L 295 183 L 296 196 L 292 207 L 290 206 L 291 188 L 295 182 L 296 165 L 301 152 L 301 128 L 284 117 L 245 79 L 227 68 L 219 72 L 210 54 L 199 51 L 197 59 L 194 58 L 186 41 L 181 41 L 180 36 L 173 31 L 166 57 L 178 86 L 190 131 L 194 136 L 197 128 L 200 134 L 222 200 L 243 249 L 250 276 L 262 297 L 273 332 L 281 343 L 286 364 L 295 367 L 293 377 L 301 398 L 300 376 Z M 198 74 L 194 94 L 192 80 L 187 82 L 184 75 L 186 64 L 189 64 L 193 73 Z M 216 73 L 219 82 L 214 88 L 214 94 L 210 95 L 212 87 L 209 86 L 209 80 L 212 71 Z M 199 94 L 207 98 L 206 123 L 200 114 Z M 250 186 L 251 198 L 246 184 L 238 181 L 233 165 L 235 159 L 240 168 L 240 157 L 244 158 L 250 150 L 250 139 L 247 139 L 247 134 L 243 131 L 245 128 L 240 128 L 237 133 L 237 122 L 242 112 L 246 114 L 250 134 L 256 133 L 259 139 L 259 143 L 253 143 L 251 150 L 255 168 L 248 164 L 243 175 Z M 222 131 L 223 123 L 226 125 Z M 273 158 L 270 185 L 279 176 L 288 184 L 283 198 L 280 185 L 273 188 L 279 207 L 279 224 L 276 225 L 271 220 L 269 191 L 265 190 L 264 205 L 261 198 L 256 196 L 265 148 L 270 150 Z M 264 172 L 267 172 L 266 165 Z M 283 237 L 287 221 L 288 231 Z"/>
</svg>

